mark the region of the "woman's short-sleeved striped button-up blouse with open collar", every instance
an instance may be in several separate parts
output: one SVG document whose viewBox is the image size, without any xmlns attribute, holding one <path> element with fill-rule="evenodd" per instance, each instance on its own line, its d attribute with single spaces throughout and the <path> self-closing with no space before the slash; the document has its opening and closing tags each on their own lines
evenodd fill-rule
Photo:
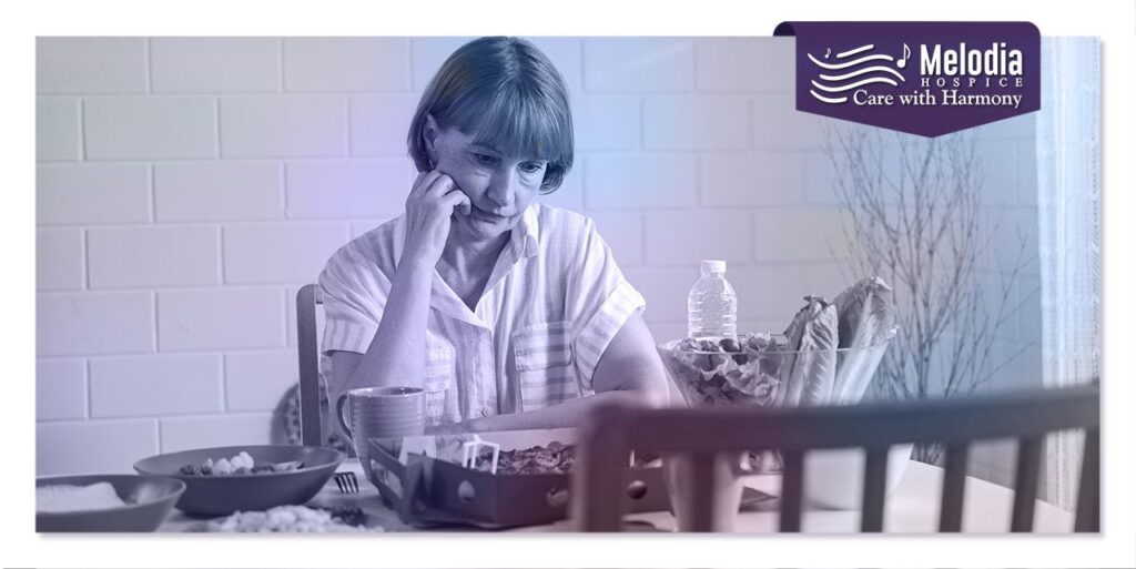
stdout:
<svg viewBox="0 0 1136 569">
<path fill-rule="evenodd" d="M 342 246 L 319 275 L 323 353 L 365 353 L 406 241 L 400 216 Z M 426 324 L 427 424 L 540 409 L 594 393 L 600 355 L 646 302 L 595 224 L 534 202 L 475 310 L 434 271 Z"/>
</svg>

